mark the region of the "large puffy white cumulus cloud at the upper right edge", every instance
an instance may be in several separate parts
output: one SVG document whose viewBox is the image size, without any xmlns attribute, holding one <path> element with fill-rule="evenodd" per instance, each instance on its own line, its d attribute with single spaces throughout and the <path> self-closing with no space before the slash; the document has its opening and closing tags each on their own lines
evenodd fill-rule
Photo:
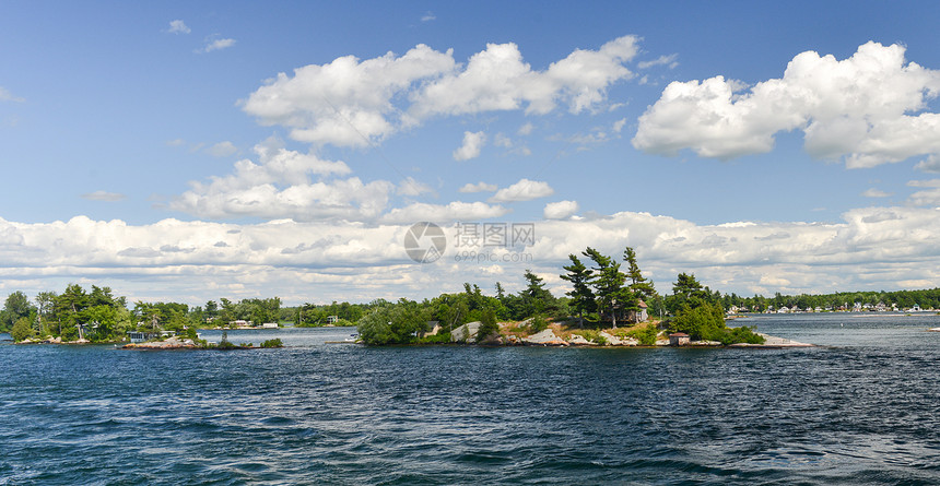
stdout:
<svg viewBox="0 0 940 486">
<path fill-rule="evenodd" d="M 765 153 L 780 131 L 802 130 L 806 150 L 847 167 L 940 153 L 940 71 L 906 62 L 901 45 L 870 42 L 848 59 L 807 51 L 784 76 L 745 84 L 715 76 L 670 83 L 639 118 L 633 145 L 703 157 Z"/>
</svg>

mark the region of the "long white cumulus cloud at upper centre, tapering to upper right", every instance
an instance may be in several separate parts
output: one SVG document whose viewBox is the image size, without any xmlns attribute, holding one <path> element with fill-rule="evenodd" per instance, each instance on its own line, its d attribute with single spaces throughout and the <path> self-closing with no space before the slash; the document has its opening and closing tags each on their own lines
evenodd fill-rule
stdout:
<svg viewBox="0 0 940 486">
<path fill-rule="evenodd" d="M 465 64 L 453 49 L 418 45 L 402 56 L 337 58 L 280 73 L 240 102 L 266 126 L 318 145 L 368 145 L 435 116 L 519 110 L 544 115 L 559 105 L 577 114 L 603 103 L 608 87 L 633 73 L 638 50 L 624 36 L 597 50 L 576 49 L 533 70 L 515 44 L 490 44 Z M 530 131 L 531 129 L 527 129 Z"/>
</svg>

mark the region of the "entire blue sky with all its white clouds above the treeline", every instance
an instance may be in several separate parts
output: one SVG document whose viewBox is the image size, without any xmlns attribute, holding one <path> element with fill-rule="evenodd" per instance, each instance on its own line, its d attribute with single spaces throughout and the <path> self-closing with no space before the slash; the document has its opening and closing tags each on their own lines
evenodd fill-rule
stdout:
<svg viewBox="0 0 940 486">
<path fill-rule="evenodd" d="M 587 245 L 660 292 L 937 285 L 940 5 L 649 3 L 4 2 L 0 293 L 561 295 Z M 458 262 L 457 223 L 537 240 Z"/>
</svg>

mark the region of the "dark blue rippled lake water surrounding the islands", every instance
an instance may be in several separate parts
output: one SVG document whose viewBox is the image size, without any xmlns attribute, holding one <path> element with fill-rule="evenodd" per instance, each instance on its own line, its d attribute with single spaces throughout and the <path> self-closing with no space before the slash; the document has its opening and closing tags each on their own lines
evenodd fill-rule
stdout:
<svg viewBox="0 0 940 486">
<path fill-rule="evenodd" d="M 940 483 L 940 316 L 740 322 L 833 347 L 0 345 L 0 484 Z"/>
</svg>

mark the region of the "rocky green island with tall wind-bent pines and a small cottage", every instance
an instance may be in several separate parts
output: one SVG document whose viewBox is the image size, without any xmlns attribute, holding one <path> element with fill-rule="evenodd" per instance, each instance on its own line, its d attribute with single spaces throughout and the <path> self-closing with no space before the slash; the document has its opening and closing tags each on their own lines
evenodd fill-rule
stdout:
<svg viewBox="0 0 940 486">
<path fill-rule="evenodd" d="M 633 248 L 624 249 L 622 263 L 590 247 L 579 256 L 569 254 L 568 260 L 560 275 L 572 285 L 565 297 L 555 297 L 545 289 L 543 278 L 526 271 L 526 287 L 515 295 L 507 294 L 498 282 L 494 296 L 483 295 L 480 287 L 468 283 L 462 293 L 420 303 L 379 303 L 360 319 L 360 336 L 372 345 L 449 343 L 466 341 L 467 336 L 455 339 L 454 333 L 469 333 L 461 327 L 479 322 L 473 332 L 478 343 L 514 342 L 543 332 L 550 324 L 559 333 L 575 333 L 599 345 L 614 339 L 654 345 L 662 334 L 677 332 L 698 342 L 763 343 L 750 328 L 728 328 L 720 295 L 694 275 L 679 274 L 672 294 L 660 296 L 643 276 Z M 648 320 L 647 301 L 671 318 Z M 625 332 L 619 327 L 626 327 Z"/>
</svg>

